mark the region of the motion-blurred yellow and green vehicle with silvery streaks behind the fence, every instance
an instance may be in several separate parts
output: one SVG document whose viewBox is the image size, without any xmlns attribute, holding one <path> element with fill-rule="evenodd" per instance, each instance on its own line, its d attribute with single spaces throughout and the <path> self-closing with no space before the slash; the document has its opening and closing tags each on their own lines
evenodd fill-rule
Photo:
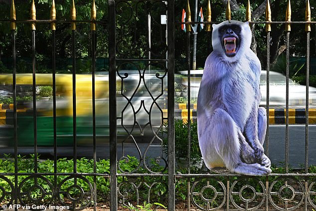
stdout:
<svg viewBox="0 0 316 211">
<path fill-rule="evenodd" d="M 137 79 L 136 79 L 137 77 Z M 137 81 L 136 81 L 137 80 Z M 155 83 L 154 83 L 155 80 Z M 153 74 L 139 79 L 130 74 L 124 80 L 117 78 L 118 135 L 151 133 L 155 136 L 162 126 L 166 90 L 164 81 Z M 140 83 L 137 83 L 137 82 Z M 165 80 L 166 81 L 166 80 Z M 145 86 L 146 84 L 146 86 Z M 154 84 L 154 88 L 150 86 Z M 36 74 L 36 87 L 52 86 L 52 74 Z M 0 87 L 12 94 L 12 74 L 0 74 Z M 17 96 L 32 95 L 32 74 L 16 74 Z M 166 86 L 165 86 L 166 88 Z M 148 91 L 146 91 L 148 90 Z M 150 93 L 151 92 L 151 93 Z M 164 95 L 165 94 L 165 95 Z M 34 145 L 33 102 L 17 99 L 17 139 L 19 146 Z M 109 138 L 109 77 L 95 75 L 96 136 L 97 141 Z M 73 144 L 72 74 L 56 74 L 56 132 L 58 146 Z M 22 106 L 21 106 L 22 104 Z M 13 110 L 6 110 L 7 122 L 0 132 L 0 145 L 13 146 Z M 151 114 L 151 115 L 149 115 Z M 37 145 L 53 145 L 53 101 L 36 96 Z M 92 76 L 76 74 L 76 137 L 78 145 L 92 143 Z M 152 128 L 156 128 L 153 130 Z M 136 130 L 137 129 L 137 130 Z"/>
</svg>

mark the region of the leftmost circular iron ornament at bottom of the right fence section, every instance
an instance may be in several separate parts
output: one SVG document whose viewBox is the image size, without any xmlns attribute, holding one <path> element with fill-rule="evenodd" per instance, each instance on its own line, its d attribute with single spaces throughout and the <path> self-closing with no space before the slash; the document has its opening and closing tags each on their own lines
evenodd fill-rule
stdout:
<svg viewBox="0 0 316 211">
<path fill-rule="evenodd" d="M 202 188 L 200 183 L 206 183 Z M 212 196 L 206 196 L 207 192 L 212 193 Z M 222 198 L 222 199 L 219 199 Z M 191 199 L 193 205 L 204 211 L 215 211 L 223 207 L 226 202 L 226 188 L 224 184 L 215 178 L 200 179 L 194 182 L 191 188 Z M 213 207 L 218 200 L 218 206 Z M 199 203 L 202 201 L 202 203 Z"/>
</svg>

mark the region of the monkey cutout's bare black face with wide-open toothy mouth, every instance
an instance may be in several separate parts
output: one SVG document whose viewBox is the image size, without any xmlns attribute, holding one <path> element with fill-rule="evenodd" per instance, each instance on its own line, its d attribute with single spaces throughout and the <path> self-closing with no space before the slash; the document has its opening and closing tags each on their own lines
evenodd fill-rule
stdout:
<svg viewBox="0 0 316 211">
<path fill-rule="evenodd" d="M 226 56 L 235 56 L 239 49 L 239 36 L 241 32 L 240 26 L 236 24 L 223 25 L 218 29 L 218 31 Z"/>
</svg>

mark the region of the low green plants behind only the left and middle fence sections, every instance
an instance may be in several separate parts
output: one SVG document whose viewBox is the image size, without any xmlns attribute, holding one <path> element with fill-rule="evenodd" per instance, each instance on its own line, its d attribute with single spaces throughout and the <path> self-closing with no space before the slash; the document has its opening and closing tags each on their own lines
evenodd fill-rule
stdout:
<svg viewBox="0 0 316 211">
<path fill-rule="evenodd" d="M 30 155 L 29 158 L 25 157 L 25 156 L 17 156 L 17 171 L 18 173 L 34 173 L 34 155 Z M 134 169 L 136 169 L 139 166 L 140 161 L 135 158 L 135 157 L 131 157 L 131 156 L 127 156 L 127 158 L 129 159 L 130 162 L 126 162 L 125 160 L 121 160 L 119 161 L 119 165 L 120 168 L 126 172 L 128 171 L 132 171 Z M 37 156 L 37 160 L 39 161 L 39 156 Z M 74 166 L 74 161 L 68 160 L 66 158 L 61 158 L 57 160 L 57 172 L 58 173 L 62 173 L 62 174 L 67 174 L 67 173 L 73 173 L 73 166 Z M 159 165 L 158 165 L 159 166 Z M 161 169 L 161 167 L 160 167 Z M 14 173 L 14 159 L 12 157 L 12 155 L 7 155 L 4 154 L 4 159 L 0 159 L 0 173 Z M 38 173 L 54 173 L 54 161 L 53 160 L 40 160 L 37 163 L 37 172 Z M 86 159 L 86 158 L 80 158 L 77 160 L 77 172 L 78 173 L 94 173 L 94 161 L 93 159 Z M 148 171 L 143 168 L 140 167 L 139 172 L 141 173 L 145 173 Z M 98 161 L 96 161 L 96 173 L 99 174 L 110 174 L 110 161 L 106 160 L 106 159 L 100 159 Z M 118 170 L 118 173 L 122 173 L 121 171 Z M 165 173 L 165 172 L 164 172 Z M 14 176 L 5 176 L 7 179 L 9 179 L 10 181 L 14 181 Z M 26 178 L 27 176 L 18 176 L 18 184 L 21 184 L 21 182 Z M 56 177 L 57 179 L 57 184 L 61 184 L 62 181 L 64 179 L 66 179 L 68 176 L 67 175 L 58 175 Z M 54 182 L 54 176 L 45 176 L 45 178 L 50 181 L 51 183 Z M 93 176 L 85 176 L 84 178 L 86 178 L 91 184 L 94 183 L 94 177 Z M 131 178 L 131 182 L 135 183 L 135 184 L 139 184 L 141 182 L 146 181 L 148 184 L 153 184 L 156 183 L 155 186 L 152 187 L 151 189 L 151 200 L 153 202 L 159 202 L 159 203 L 164 203 L 164 197 L 167 193 L 167 188 L 166 185 L 163 184 L 167 184 L 167 178 L 163 178 L 161 180 L 161 178 L 155 178 L 155 177 L 137 177 L 136 179 Z M 124 177 L 120 177 L 118 176 L 118 183 L 125 183 L 128 182 L 127 178 Z M 42 187 L 47 193 L 50 190 L 50 187 L 47 185 L 47 182 L 42 180 L 42 179 L 38 179 L 37 183 L 40 187 Z M 89 184 L 78 178 L 77 179 L 77 184 L 79 187 L 81 187 L 84 191 L 89 191 L 90 190 L 90 186 Z M 34 185 L 34 179 L 29 179 L 27 180 L 27 183 L 25 183 L 25 185 L 23 186 L 23 188 L 21 189 L 23 192 L 27 192 L 27 189 L 32 187 Z M 76 194 L 79 194 L 79 190 L 77 190 L 76 188 L 72 188 L 70 190 L 69 187 L 71 187 L 73 185 L 73 179 L 71 180 L 67 180 L 60 189 L 61 192 L 61 197 L 62 198 L 66 198 L 66 192 L 69 191 L 70 196 L 74 196 Z M 11 188 L 10 186 L 3 180 L 0 179 L 0 186 L 7 192 L 11 192 Z M 108 202 L 108 199 L 110 197 L 110 181 L 109 179 L 103 177 L 103 176 L 97 176 L 96 177 L 96 190 L 97 190 L 97 196 L 98 196 L 98 201 L 99 202 Z M 33 199 L 37 199 L 40 197 L 41 193 L 37 193 L 38 190 L 33 190 L 31 192 L 31 196 Z M 146 201 L 149 193 L 148 193 L 148 189 L 146 187 L 140 187 L 139 188 L 139 193 L 140 196 L 144 196 L 144 200 Z M 45 196 L 45 198 L 42 200 L 43 203 L 45 202 L 49 202 L 49 195 Z M 136 196 L 132 196 L 132 200 L 136 200 L 136 198 L 134 198 Z M 8 203 L 10 199 L 7 200 L 3 200 L 1 203 L 5 204 Z M 25 199 L 27 200 L 27 199 Z M 27 203 L 32 203 L 32 202 L 28 202 L 28 201 L 24 201 L 26 204 Z M 158 205 L 156 203 L 156 205 Z M 162 206 L 161 206 L 162 207 Z"/>
</svg>

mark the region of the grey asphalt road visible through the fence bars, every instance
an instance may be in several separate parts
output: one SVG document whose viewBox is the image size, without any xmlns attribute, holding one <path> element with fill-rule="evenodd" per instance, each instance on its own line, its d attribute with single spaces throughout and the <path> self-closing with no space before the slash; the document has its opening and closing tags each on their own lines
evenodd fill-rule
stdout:
<svg viewBox="0 0 316 211">
<path fill-rule="evenodd" d="M 3 129 L 3 128 L 1 128 Z M 285 163 L 285 151 L 286 151 L 286 141 L 285 141 L 285 131 L 286 127 L 284 125 L 271 125 L 269 127 L 269 152 L 268 157 L 270 158 L 272 164 L 277 166 L 282 166 Z M 138 143 L 138 147 L 142 155 L 148 147 L 148 141 L 151 137 L 140 137 L 142 140 Z M 106 140 L 106 143 L 104 143 Z M 136 140 L 140 140 L 136 138 Z M 119 139 L 121 142 L 122 139 Z M 156 142 L 149 147 L 146 154 L 149 158 L 156 158 L 161 155 L 161 148 L 158 146 L 159 143 Z M 301 165 L 305 164 L 305 125 L 290 125 L 289 126 L 289 163 L 292 168 L 300 168 Z M 104 137 L 97 138 L 96 155 L 97 158 L 109 158 L 110 157 L 110 146 L 108 139 Z M 38 147 L 37 151 L 42 157 L 52 157 L 54 154 L 53 147 Z M 124 144 L 125 155 L 131 155 L 140 157 L 137 147 L 132 141 Z M 122 144 L 117 146 L 118 158 L 123 155 Z M 4 153 L 14 153 L 13 147 L 0 147 L 0 155 L 3 156 Z M 18 154 L 28 155 L 34 153 L 32 147 L 19 147 Z M 73 156 L 73 147 L 58 147 L 57 148 L 58 157 L 69 157 Z M 93 157 L 93 146 L 78 146 L 77 147 L 77 157 Z M 309 126 L 309 166 L 316 165 L 316 125 Z"/>
</svg>

